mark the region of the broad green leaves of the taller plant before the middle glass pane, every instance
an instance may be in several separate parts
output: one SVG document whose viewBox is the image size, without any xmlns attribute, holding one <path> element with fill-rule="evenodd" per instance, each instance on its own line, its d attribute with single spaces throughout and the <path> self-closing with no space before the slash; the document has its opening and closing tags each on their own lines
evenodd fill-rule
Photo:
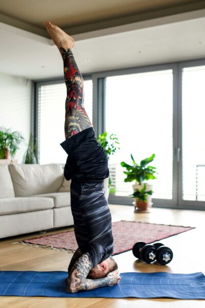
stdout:
<svg viewBox="0 0 205 308">
<path fill-rule="evenodd" d="M 136 181 L 137 184 L 142 184 L 144 181 L 156 179 L 156 177 L 154 176 L 154 173 L 156 172 L 154 169 L 156 168 L 152 166 L 147 166 L 150 162 L 154 160 L 154 157 L 155 154 L 153 154 L 149 158 L 142 160 L 140 164 L 137 164 L 131 154 L 133 165 L 121 162 L 120 165 L 127 169 L 127 171 L 123 171 L 124 174 L 127 175 L 127 178 L 124 180 L 124 182 Z"/>
</svg>

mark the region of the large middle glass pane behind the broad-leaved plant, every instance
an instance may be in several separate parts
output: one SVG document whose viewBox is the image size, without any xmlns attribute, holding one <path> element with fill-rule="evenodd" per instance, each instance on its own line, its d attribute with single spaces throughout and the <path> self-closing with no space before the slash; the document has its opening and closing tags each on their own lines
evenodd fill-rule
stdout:
<svg viewBox="0 0 205 308">
<path fill-rule="evenodd" d="M 133 192 L 125 183 L 125 168 L 155 153 L 157 179 L 153 198 L 172 199 L 173 169 L 173 74 L 172 70 L 112 76 L 106 79 L 106 131 L 116 133 L 120 150 L 110 158 L 109 168 L 115 179 L 117 196 Z"/>
</svg>

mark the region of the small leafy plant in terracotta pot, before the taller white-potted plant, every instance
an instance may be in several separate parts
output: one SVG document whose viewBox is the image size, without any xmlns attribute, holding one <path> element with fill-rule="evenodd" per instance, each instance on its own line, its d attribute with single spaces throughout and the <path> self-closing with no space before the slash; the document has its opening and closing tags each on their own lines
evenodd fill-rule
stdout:
<svg viewBox="0 0 205 308">
<path fill-rule="evenodd" d="M 130 195 L 132 198 L 135 198 L 134 202 L 134 211 L 136 213 L 148 213 L 149 212 L 149 205 L 148 205 L 148 195 L 152 195 L 152 190 L 146 190 L 146 184 L 144 184 L 142 189 L 135 189 L 133 194 Z"/>
</svg>

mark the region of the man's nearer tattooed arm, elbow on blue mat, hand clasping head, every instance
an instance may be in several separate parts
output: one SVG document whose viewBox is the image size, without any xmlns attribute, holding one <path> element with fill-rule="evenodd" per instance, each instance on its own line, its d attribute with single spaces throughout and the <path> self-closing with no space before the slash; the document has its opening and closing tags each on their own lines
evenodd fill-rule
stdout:
<svg viewBox="0 0 205 308">
<path fill-rule="evenodd" d="M 118 271 L 110 272 L 105 278 L 87 279 L 92 268 L 92 263 L 87 254 L 81 255 L 73 265 L 66 282 L 67 293 L 75 293 L 80 290 L 92 290 L 94 288 L 117 284 L 120 279 Z"/>
</svg>

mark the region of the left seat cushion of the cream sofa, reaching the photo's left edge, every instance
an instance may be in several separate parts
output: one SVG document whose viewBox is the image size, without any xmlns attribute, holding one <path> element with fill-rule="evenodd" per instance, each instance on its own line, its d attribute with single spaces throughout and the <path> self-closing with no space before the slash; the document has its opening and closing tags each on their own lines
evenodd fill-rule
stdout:
<svg viewBox="0 0 205 308">
<path fill-rule="evenodd" d="M 25 213 L 29 211 L 53 208 L 52 198 L 2 198 L 0 199 L 0 215 Z"/>
</svg>

